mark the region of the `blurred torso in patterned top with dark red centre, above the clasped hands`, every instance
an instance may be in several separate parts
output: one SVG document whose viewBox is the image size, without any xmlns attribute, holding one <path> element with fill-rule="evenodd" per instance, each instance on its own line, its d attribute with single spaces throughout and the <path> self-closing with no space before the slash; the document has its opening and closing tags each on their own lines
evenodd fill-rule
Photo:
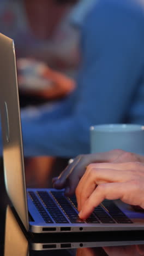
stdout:
<svg viewBox="0 0 144 256">
<path fill-rule="evenodd" d="M 77 34 L 66 22 L 75 2 L 76 0 L 2 1 L 1 33 L 15 40 L 18 58 L 31 57 L 46 61 L 57 69 L 61 69 L 59 62 L 67 67 L 75 66 Z M 70 55 L 69 58 L 67 54 Z"/>
</svg>

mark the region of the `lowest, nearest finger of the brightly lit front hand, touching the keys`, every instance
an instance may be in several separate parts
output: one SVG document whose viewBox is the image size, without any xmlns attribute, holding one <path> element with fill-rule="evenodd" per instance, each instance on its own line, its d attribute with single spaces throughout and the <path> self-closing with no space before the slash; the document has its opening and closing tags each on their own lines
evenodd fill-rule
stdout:
<svg viewBox="0 0 144 256">
<path fill-rule="evenodd" d="M 81 206 L 80 218 L 86 219 L 104 199 L 121 199 L 123 195 L 129 193 L 129 187 L 126 183 L 106 183 L 100 184 L 93 191 L 91 196 Z"/>
</svg>

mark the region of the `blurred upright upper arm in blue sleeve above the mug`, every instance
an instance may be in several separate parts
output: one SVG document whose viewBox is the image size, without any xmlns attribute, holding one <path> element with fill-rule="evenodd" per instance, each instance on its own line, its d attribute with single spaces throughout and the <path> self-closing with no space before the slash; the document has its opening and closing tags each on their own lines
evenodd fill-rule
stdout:
<svg viewBox="0 0 144 256">
<path fill-rule="evenodd" d="M 137 11 L 119 5 L 99 1 L 83 28 L 79 110 L 93 115 L 93 125 L 144 121 L 139 113 L 131 117 L 143 70 L 143 25 Z"/>
</svg>

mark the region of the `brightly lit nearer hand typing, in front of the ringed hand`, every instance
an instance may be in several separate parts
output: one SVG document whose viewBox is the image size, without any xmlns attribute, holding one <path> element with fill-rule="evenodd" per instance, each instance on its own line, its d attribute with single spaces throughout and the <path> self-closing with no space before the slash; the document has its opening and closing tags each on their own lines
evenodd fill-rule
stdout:
<svg viewBox="0 0 144 256">
<path fill-rule="evenodd" d="M 77 188 L 79 216 L 88 218 L 104 199 L 121 199 L 144 208 L 144 164 L 141 162 L 90 164 Z"/>
</svg>

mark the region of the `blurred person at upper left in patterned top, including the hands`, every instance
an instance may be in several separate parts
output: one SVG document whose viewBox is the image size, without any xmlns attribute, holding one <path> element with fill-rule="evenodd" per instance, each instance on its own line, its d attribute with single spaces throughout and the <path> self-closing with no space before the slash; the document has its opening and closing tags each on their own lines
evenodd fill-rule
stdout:
<svg viewBox="0 0 144 256">
<path fill-rule="evenodd" d="M 15 41 L 22 91 L 55 99 L 74 90 L 74 80 L 62 73 L 72 76 L 79 59 L 76 53 L 79 34 L 67 22 L 75 2 L 5 0 L 1 3 L 0 30 Z"/>
</svg>

